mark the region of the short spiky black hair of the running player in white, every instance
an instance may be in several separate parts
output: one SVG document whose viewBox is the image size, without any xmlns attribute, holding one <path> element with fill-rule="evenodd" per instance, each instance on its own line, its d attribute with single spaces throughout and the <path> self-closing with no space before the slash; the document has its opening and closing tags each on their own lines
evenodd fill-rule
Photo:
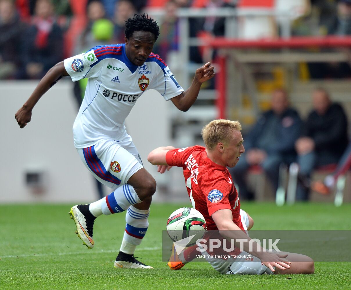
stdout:
<svg viewBox="0 0 351 290">
<path fill-rule="evenodd" d="M 129 39 L 135 31 L 149 31 L 155 36 L 155 40 L 160 34 L 157 22 L 145 13 L 143 15 L 134 14 L 133 18 L 128 18 L 126 21 L 126 29 L 124 30 L 126 38 Z"/>
</svg>

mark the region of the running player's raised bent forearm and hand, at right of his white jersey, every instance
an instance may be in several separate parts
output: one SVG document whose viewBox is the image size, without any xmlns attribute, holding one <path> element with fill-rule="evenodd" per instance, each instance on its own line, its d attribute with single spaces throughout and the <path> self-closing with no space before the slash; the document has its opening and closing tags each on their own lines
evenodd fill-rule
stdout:
<svg viewBox="0 0 351 290">
<path fill-rule="evenodd" d="M 196 101 L 202 83 L 212 79 L 212 77 L 214 77 L 214 68 L 211 62 L 207 62 L 196 70 L 191 86 L 185 92 L 171 99 L 174 106 L 186 112 Z"/>
</svg>

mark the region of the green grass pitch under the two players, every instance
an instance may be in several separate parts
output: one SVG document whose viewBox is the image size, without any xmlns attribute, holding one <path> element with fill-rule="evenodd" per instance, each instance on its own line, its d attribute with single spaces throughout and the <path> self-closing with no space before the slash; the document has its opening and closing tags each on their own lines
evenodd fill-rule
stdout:
<svg viewBox="0 0 351 290">
<path fill-rule="evenodd" d="M 153 270 L 114 269 L 125 214 L 95 221 L 95 247 L 74 234 L 72 205 L 0 205 L 0 289 L 350 289 L 351 262 L 316 262 L 313 275 L 223 275 L 204 262 L 171 271 L 161 261 L 168 216 L 189 204 L 156 204 L 135 256 Z M 351 230 L 351 204 L 243 202 L 256 230 Z M 351 250 L 351 249 L 350 249 Z"/>
</svg>

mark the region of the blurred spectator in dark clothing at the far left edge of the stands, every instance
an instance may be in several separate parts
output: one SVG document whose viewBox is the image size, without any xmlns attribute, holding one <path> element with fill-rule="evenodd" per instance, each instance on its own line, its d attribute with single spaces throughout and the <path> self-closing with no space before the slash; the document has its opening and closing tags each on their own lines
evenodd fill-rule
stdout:
<svg viewBox="0 0 351 290">
<path fill-rule="evenodd" d="M 0 79 L 19 76 L 20 48 L 24 26 L 11 0 L 0 1 Z"/>
</svg>

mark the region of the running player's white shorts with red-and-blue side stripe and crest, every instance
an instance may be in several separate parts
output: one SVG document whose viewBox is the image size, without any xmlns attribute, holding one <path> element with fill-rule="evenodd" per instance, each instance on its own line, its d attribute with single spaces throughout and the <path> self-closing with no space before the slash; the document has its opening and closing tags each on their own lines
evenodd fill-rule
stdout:
<svg viewBox="0 0 351 290">
<path fill-rule="evenodd" d="M 91 147 L 77 150 L 91 174 L 113 190 L 143 168 L 138 150 L 128 134 L 121 140 L 102 139 Z"/>
</svg>

